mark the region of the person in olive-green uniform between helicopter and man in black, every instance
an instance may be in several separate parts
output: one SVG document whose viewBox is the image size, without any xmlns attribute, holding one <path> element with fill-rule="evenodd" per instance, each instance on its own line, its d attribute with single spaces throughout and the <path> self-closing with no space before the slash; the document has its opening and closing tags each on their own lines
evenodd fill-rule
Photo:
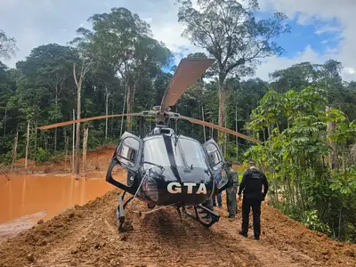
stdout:
<svg viewBox="0 0 356 267">
<path fill-rule="evenodd" d="M 233 221 L 238 211 L 236 193 L 239 187 L 239 178 L 230 162 L 227 162 L 226 166 L 229 168 L 228 178 L 230 183 L 229 187 L 226 189 L 226 205 L 228 206 L 229 218 Z"/>
</svg>

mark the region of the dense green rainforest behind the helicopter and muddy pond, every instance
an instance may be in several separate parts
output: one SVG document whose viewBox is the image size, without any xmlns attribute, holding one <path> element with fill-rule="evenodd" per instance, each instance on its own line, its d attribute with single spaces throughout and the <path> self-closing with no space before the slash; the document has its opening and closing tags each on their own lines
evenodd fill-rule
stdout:
<svg viewBox="0 0 356 267">
<path fill-rule="evenodd" d="M 190 122 L 171 120 L 178 134 L 219 141 L 226 159 L 255 159 L 271 184 L 271 205 L 333 239 L 356 241 L 356 82 L 341 77 L 341 62 L 300 62 L 253 77 L 258 63 L 284 50 L 274 40 L 290 31 L 287 16 L 257 20 L 256 1 L 177 1 L 183 36 L 202 49 L 189 57 L 216 60 L 183 94 L 174 112 L 258 138 L 255 144 Z M 158 106 L 176 66 L 150 24 L 118 7 L 93 14 L 68 44 L 42 44 L 16 68 L 0 61 L 0 162 L 42 163 L 74 153 L 88 129 L 88 150 L 117 144 L 120 134 L 145 134 L 155 120 L 109 118 L 48 131 L 37 126 L 140 112 Z M 214 21 L 214 23 L 212 23 Z M 0 60 L 16 40 L 0 30 Z M 79 97 L 77 92 L 80 92 Z M 80 102 L 78 106 L 77 103 Z M 80 108 L 79 108 L 80 107 Z M 80 143 L 79 143 L 80 142 Z M 28 148 L 28 149 L 27 149 Z M 78 150 L 77 150 L 78 152 Z"/>
</svg>

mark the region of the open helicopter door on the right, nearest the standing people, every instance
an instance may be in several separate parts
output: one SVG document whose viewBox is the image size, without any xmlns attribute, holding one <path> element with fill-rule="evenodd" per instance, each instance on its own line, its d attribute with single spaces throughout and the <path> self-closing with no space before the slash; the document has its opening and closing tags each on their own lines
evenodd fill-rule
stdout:
<svg viewBox="0 0 356 267">
<path fill-rule="evenodd" d="M 219 149 L 219 146 L 214 139 L 203 144 L 203 148 L 206 151 L 208 162 L 213 170 L 214 177 L 217 182 L 218 189 L 224 188 L 229 182 L 227 170 L 225 169 L 225 161 L 223 159 L 223 153 Z"/>
</svg>

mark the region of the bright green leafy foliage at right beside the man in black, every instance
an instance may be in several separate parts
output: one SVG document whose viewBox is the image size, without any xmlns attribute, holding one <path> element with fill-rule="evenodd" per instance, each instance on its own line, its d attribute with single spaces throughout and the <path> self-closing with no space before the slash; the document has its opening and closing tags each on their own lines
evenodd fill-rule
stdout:
<svg viewBox="0 0 356 267">
<path fill-rule="evenodd" d="M 345 163 L 355 126 L 341 110 L 327 109 L 325 95 L 315 86 L 266 93 L 247 128 L 255 132 L 267 128 L 268 136 L 245 157 L 254 158 L 270 178 L 273 206 L 312 230 L 354 239 L 355 233 L 345 225 L 356 223 L 356 218 L 345 209 L 356 201 L 356 169 Z M 330 169 L 333 153 L 343 161 L 342 169 Z"/>
</svg>

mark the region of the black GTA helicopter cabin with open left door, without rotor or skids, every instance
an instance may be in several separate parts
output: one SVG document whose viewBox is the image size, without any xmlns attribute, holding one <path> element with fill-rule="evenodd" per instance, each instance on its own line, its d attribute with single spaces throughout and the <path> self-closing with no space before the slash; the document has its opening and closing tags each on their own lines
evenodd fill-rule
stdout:
<svg viewBox="0 0 356 267">
<path fill-rule="evenodd" d="M 111 181 L 117 187 L 154 206 L 198 205 L 217 191 L 204 144 L 170 128 L 154 130 L 142 140 L 128 138 L 133 140 L 121 140 L 113 157 L 128 171 L 124 186 Z M 134 144 L 134 138 L 140 142 Z"/>
</svg>

